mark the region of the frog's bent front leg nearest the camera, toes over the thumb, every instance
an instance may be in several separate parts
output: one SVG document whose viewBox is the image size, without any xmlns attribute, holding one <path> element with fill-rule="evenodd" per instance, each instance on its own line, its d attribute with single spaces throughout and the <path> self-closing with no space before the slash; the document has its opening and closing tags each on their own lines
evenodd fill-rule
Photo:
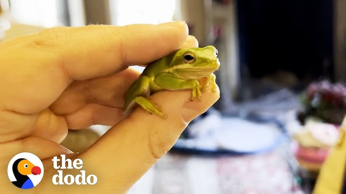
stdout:
<svg viewBox="0 0 346 194">
<path fill-rule="evenodd" d="M 163 72 L 156 75 L 154 82 L 161 88 L 168 90 L 192 89 L 191 101 L 193 101 L 196 98 L 196 96 L 199 101 L 201 100 L 202 86 L 196 79 L 181 79 L 175 77 L 175 75 L 172 73 Z"/>
</svg>

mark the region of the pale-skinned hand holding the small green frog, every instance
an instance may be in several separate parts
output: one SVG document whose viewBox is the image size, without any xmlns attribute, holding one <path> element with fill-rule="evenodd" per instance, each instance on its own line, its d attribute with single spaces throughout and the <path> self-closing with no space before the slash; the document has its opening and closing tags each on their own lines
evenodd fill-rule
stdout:
<svg viewBox="0 0 346 194">
<path fill-rule="evenodd" d="M 197 47 L 183 22 L 126 27 L 53 28 L 0 44 L 0 188 L 6 193 L 126 193 L 179 138 L 187 124 L 219 98 L 219 90 L 162 90 L 150 100 L 166 119 L 134 110 L 124 118 L 124 93 L 139 73 L 128 65 L 146 64 L 170 52 Z M 148 49 L 150 48 L 150 49 Z M 155 123 L 155 125 L 152 125 Z M 60 145 L 68 129 L 113 126 L 83 153 Z M 78 143 L 78 142 L 76 142 Z M 42 181 L 23 190 L 7 177 L 10 159 L 37 155 Z M 51 158 L 68 154 L 83 160 L 95 185 L 53 185 Z M 79 170 L 64 170 L 76 174 Z"/>
</svg>

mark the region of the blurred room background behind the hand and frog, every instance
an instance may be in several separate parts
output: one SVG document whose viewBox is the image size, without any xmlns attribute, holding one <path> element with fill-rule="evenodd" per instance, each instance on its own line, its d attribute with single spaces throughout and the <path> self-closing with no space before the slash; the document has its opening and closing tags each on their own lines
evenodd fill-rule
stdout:
<svg viewBox="0 0 346 194">
<path fill-rule="evenodd" d="M 129 193 L 311 193 L 346 114 L 345 19 L 346 0 L 0 0 L 0 41 L 184 20 L 219 51 L 221 98 Z M 62 144 L 83 151 L 108 129 Z"/>
</svg>

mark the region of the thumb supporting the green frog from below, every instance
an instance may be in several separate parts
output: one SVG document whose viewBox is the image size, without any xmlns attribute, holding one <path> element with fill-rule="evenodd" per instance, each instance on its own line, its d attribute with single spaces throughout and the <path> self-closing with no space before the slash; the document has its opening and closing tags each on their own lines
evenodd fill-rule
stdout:
<svg viewBox="0 0 346 194">
<path fill-rule="evenodd" d="M 190 96 L 188 90 L 153 94 L 150 100 L 162 107 L 166 119 L 137 108 L 78 156 L 86 169 L 97 172 L 99 188 L 126 192 L 175 144 L 188 123 L 219 99 L 219 90 L 202 93 L 201 102 L 191 102 Z"/>
</svg>

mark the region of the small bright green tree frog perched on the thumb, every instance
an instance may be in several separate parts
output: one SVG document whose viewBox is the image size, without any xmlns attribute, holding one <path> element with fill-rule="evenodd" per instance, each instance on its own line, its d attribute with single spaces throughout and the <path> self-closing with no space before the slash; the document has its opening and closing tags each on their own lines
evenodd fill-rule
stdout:
<svg viewBox="0 0 346 194">
<path fill-rule="evenodd" d="M 191 101 L 201 100 L 209 84 L 216 91 L 215 74 L 220 66 L 217 49 L 183 48 L 150 63 L 125 94 L 124 113 L 128 115 L 136 104 L 150 114 L 166 118 L 160 106 L 149 100 L 150 94 L 162 90 L 191 89 Z"/>
</svg>

